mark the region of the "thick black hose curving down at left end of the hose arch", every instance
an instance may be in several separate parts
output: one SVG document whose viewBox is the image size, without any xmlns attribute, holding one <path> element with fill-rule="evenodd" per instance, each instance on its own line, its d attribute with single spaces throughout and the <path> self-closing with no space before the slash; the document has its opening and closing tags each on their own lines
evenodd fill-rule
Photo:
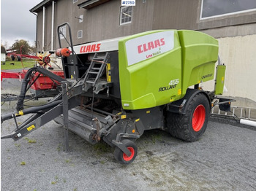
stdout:
<svg viewBox="0 0 256 191">
<path fill-rule="evenodd" d="M 23 110 L 23 108 L 24 108 L 23 103 L 24 103 L 24 99 L 26 96 L 26 90 L 27 90 L 27 86 L 30 82 L 30 76 L 33 71 L 37 71 L 37 68 L 34 67 L 34 68 L 29 69 L 23 79 L 21 89 L 20 89 L 20 95 L 18 95 L 18 102 L 17 102 L 17 106 L 16 106 L 17 111 Z"/>
</svg>

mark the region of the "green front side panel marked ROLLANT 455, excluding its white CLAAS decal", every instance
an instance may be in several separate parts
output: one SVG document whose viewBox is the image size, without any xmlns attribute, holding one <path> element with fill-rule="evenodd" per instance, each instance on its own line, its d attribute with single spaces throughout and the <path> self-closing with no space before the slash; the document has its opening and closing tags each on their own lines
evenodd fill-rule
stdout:
<svg viewBox="0 0 256 191">
<path fill-rule="evenodd" d="M 181 80 L 181 47 L 176 31 L 173 50 L 128 66 L 125 43 L 129 39 L 157 32 L 159 31 L 137 34 L 119 41 L 119 77 L 124 109 L 145 109 L 180 98 L 178 90 L 181 91 L 181 82 L 175 87 L 170 88 L 169 85 L 172 79 Z M 159 91 L 162 87 L 162 91 Z"/>
</svg>

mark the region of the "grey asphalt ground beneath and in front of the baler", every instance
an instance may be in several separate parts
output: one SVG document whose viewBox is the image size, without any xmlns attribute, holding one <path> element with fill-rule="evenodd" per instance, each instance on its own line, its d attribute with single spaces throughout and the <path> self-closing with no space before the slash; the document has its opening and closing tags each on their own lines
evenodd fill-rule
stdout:
<svg viewBox="0 0 256 191">
<path fill-rule="evenodd" d="M 14 108 L 5 103 L 1 113 Z M 5 121 L 1 135 L 13 128 Z M 213 121 L 192 143 L 150 130 L 136 141 L 135 161 L 121 165 L 113 149 L 74 133 L 64 152 L 63 128 L 50 121 L 19 141 L 1 139 L 1 190 L 256 190 L 255 137 L 256 130 Z"/>
</svg>

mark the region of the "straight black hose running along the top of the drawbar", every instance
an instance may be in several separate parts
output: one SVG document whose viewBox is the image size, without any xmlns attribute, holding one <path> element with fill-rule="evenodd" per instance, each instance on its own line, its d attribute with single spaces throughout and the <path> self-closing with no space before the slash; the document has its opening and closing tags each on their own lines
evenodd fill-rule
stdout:
<svg viewBox="0 0 256 191">
<path fill-rule="evenodd" d="M 28 109 L 24 109 L 22 112 L 19 112 L 17 114 L 15 113 L 1 114 L 1 122 L 4 122 L 5 120 L 9 120 L 13 117 L 18 117 L 20 115 L 37 113 L 43 109 L 50 109 L 50 108 L 53 108 L 54 106 L 61 104 L 61 102 L 62 100 L 58 100 L 58 101 L 50 102 L 49 104 L 45 104 L 43 106 L 33 106 Z"/>
</svg>

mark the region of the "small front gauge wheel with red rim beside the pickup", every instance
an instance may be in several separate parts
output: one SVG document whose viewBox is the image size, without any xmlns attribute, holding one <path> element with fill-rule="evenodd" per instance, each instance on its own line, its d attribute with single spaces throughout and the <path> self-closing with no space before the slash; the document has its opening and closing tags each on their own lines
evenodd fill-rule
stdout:
<svg viewBox="0 0 256 191">
<path fill-rule="evenodd" d="M 130 141 L 128 139 L 124 139 L 122 141 L 125 147 L 129 149 L 129 151 L 132 153 L 130 156 L 127 156 L 121 149 L 118 147 L 115 148 L 114 157 L 118 161 L 118 163 L 128 165 L 129 163 L 132 163 L 133 160 L 135 160 L 135 157 L 137 156 L 137 146 L 133 141 Z"/>
</svg>

